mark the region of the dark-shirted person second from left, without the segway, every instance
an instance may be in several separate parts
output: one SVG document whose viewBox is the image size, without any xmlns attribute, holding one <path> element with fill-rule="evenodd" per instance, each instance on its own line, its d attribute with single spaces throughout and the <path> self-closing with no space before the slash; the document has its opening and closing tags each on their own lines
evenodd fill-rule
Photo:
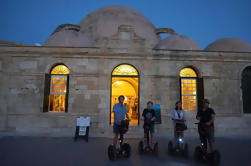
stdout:
<svg viewBox="0 0 251 166">
<path fill-rule="evenodd" d="M 152 109 L 153 102 L 147 102 L 147 108 L 144 109 L 142 113 L 142 118 L 144 120 L 144 142 L 146 143 L 147 132 L 150 131 L 150 144 L 153 144 L 153 133 L 154 133 L 154 120 L 156 119 L 155 111 Z"/>
</svg>

